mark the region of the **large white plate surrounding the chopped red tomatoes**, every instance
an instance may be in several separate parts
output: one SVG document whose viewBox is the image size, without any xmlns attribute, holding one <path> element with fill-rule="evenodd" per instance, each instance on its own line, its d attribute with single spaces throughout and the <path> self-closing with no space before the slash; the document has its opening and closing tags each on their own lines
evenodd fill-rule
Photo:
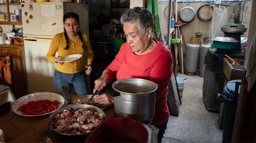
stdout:
<svg viewBox="0 0 256 143">
<path fill-rule="evenodd" d="M 22 114 L 22 112 L 17 111 L 17 109 L 21 105 L 27 104 L 29 101 L 37 101 L 37 100 L 45 100 L 45 99 L 48 99 L 51 101 L 59 100 L 61 104 L 58 105 L 58 109 L 61 108 L 62 105 L 65 103 L 64 97 L 59 94 L 52 93 L 52 92 L 37 92 L 37 93 L 32 93 L 29 95 L 22 96 L 21 98 L 15 100 L 12 104 L 12 111 L 22 116 L 42 116 L 42 115 L 46 115 L 54 112 L 55 110 L 49 113 L 41 114 L 41 115 L 24 115 Z"/>
</svg>

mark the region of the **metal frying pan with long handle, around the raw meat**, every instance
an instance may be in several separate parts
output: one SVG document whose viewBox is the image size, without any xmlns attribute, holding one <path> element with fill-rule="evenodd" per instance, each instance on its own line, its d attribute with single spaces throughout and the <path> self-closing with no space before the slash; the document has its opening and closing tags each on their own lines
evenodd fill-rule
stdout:
<svg viewBox="0 0 256 143">
<path fill-rule="evenodd" d="M 64 98 L 66 101 L 66 105 L 65 107 L 59 108 L 58 110 L 55 110 L 49 117 L 49 121 L 53 121 L 54 117 L 57 114 L 62 113 L 64 110 L 73 110 L 73 109 L 82 109 L 82 108 L 86 108 L 86 109 L 93 109 L 94 111 L 98 112 L 98 113 L 103 113 L 104 116 L 104 120 L 106 120 L 106 114 L 98 107 L 92 106 L 92 105 L 87 105 L 87 104 L 72 104 L 72 100 L 70 97 L 70 94 L 67 90 L 66 86 L 62 86 L 62 90 L 64 93 Z M 81 134 L 81 135 L 69 135 L 69 134 L 62 134 L 59 133 L 57 131 L 52 130 L 53 135 L 56 136 L 58 139 L 65 141 L 65 142 L 84 142 L 86 140 L 86 138 L 89 136 L 90 133 L 87 134 Z"/>
</svg>

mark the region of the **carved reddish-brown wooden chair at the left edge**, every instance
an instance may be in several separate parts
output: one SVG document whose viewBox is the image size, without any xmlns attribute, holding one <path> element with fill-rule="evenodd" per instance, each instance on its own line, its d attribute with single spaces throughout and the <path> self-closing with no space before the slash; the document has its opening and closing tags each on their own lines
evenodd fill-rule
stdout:
<svg viewBox="0 0 256 143">
<path fill-rule="evenodd" d="M 0 85 L 9 86 L 14 93 L 14 76 L 13 76 L 12 56 L 6 56 L 6 59 L 0 59 Z M 7 102 L 0 106 L 0 117 L 10 112 L 10 103 Z"/>
</svg>

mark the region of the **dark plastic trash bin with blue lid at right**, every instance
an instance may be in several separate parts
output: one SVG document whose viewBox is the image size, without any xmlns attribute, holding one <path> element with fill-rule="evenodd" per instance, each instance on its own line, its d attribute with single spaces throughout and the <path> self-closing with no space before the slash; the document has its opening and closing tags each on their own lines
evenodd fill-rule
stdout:
<svg viewBox="0 0 256 143">
<path fill-rule="evenodd" d="M 231 142 L 232 140 L 240 85 L 241 80 L 229 81 L 224 87 L 224 91 L 218 93 L 217 96 L 220 102 L 224 102 L 222 142 Z"/>
</svg>

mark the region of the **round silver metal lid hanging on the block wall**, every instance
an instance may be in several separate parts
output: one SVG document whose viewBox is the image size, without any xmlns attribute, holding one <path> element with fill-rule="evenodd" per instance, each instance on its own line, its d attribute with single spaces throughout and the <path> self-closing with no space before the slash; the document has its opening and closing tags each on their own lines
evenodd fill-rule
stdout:
<svg viewBox="0 0 256 143">
<path fill-rule="evenodd" d="M 191 22 L 195 19 L 196 12 L 190 6 L 182 7 L 179 11 L 179 17 L 182 21 Z"/>
</svg>

